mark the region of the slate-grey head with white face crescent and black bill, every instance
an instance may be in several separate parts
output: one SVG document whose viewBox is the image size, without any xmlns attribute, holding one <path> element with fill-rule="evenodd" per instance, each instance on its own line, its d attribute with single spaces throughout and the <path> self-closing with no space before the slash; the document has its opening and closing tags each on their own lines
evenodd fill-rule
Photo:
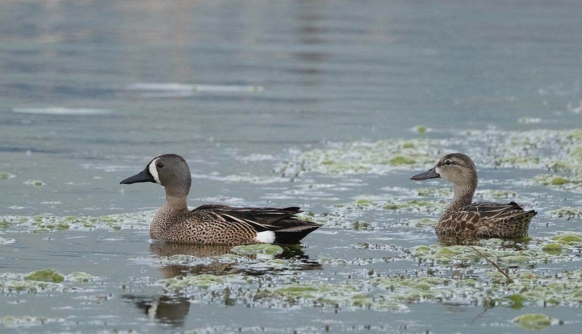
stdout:
<svg viewBox="0 0 582 334">
<path fill-rule="evenodd" d="M 190 168 L 186 160 L 177 154 L 163 154 L 150 161 L 145 169 L 134 176 L 123 179 L 120 184 L 132 184 L 137 182 L 153 182 L 161 184 L 168 189 L 185 190 L 186 195 L 190 190 L 192 179 Z"/>
</svg>

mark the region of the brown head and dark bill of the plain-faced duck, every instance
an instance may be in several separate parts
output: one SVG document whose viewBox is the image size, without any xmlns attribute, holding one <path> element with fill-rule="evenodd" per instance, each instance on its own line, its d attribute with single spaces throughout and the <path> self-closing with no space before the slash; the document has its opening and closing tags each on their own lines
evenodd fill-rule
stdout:
<svg viewBox="0 0 582 334">
<path fill-rule="evenodd" d="M 471 158 L 462 153 L 451 153 L 442 157 L 436 166 L 424 173 L 410 177 L 411 180 L 442 178 L 453 184 L 477 183 L 477 168 Z"/>
</svg>

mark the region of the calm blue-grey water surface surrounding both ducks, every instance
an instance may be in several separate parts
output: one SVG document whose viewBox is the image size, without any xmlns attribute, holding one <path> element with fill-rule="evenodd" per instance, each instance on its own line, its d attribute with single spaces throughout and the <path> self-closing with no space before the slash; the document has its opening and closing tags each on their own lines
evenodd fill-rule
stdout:
<svg viewBox="0 0 582 334">
<path fill-rule="evenodd" d="M 489 191 L 484 199 L 510 189 L 516 194 L 507 200 L 540 212 L 534 240 L 580 231 L 579 217 L 552 214 L 582 207 L 579 185 L 531 181 L 555 172 L 546 164 L 555 156 L 574 157 L 562 176 L 580 172 L 576 138 L 567 148 L 544 139 L 544 130 L 559 137 L 582 127 L 580 17 L 580 3 L 566 0 L 0 3 L 0 221 L 25 221 L 2 225 L 0 237 L 10 243 L 0 244 L 0 278 L 42 269 L 95 277 L 36 292 L 3 287 L 0 332 L 518 333 L 529 330 L 512 319 L 528 313 L 553 319 L 545 332 L 579 332 L 582 300 L 492 307 L 470 296 L 411 297 L 406 309 L 386 310 L 374 305 L 390 292 L 377 287 L 361 291 L 376 303 L 368 307 L 252 293 L 293 283 L 367 284 L 374 276 L 488 282 L 484 273 L 495 269 L 483 259 L 411 255 L 411 247 L 439 243 L 430 226 L 409 224 L 437 218 L 435 210 L 354 204 L 446 200 L 449 194 L 420 198 L 414 190 L 445 182 L 409 177 L 449 151 L 474 157 Z M 369 152 L 384 154 L 378 141 L 398 140 L 413 143 L 411 150 L 426 144 L 414 154 L 434 161 L 325 169 L 333 159 L 365 163 Z M 524 151 L 540 161 L 494 162 Z M 119 180 L 169 152 L 189 162 L 193 207 L 299 205 L 333 218 L 303 248 L 276 255 L 291 263 L 281 268 L 261 255 L 217 260 L 229 248 L 148 241 L 164 192 Z M 310 152 L 331 160 L 310 162 Z M 127 214 L 115 216 L 118 228 L 97 219 L 41 230 L 33 218 L 46 225 L 115 214 Z M 572 249 L 504 268 L 575 271 L 581 263 Z M 255 280 L 212 293 L 157 283 L 205 273 Z"/>
</svg>

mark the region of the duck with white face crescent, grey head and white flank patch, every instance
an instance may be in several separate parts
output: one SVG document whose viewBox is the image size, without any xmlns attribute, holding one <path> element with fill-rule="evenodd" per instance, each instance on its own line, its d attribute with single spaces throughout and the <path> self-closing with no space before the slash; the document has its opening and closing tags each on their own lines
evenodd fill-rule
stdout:
<svg viewBox="0 0 582 334">
<path fill-rule="evenodd" d="M 120 183 L 154 182 L 164 186 L 166 202 L 150 226 L 152 239 L 179 243 L 294 244 L 320 224 L 302 221 L 297 207 L 233 208 L 202 205 L 190 210 L 186 203 L 191 185 L 190 169 L 176 154 L 164 154 L 150 161 L 139 174 Z"/>
</svg>

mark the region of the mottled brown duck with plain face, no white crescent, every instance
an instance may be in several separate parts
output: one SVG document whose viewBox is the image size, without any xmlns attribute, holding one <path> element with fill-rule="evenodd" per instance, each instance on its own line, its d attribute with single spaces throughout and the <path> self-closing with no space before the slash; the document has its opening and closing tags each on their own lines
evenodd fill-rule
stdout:
<svg viewBox="0 0 582 334">
<path fill-rule="evenodd" d="M 516 202 L 472 203 L 477 189 L 477 169 L 471 158 L 461 153 L 447 154 L 438 164 L 412 180 L 442 177 L 453 183 L 453 200 L 435 226 L 440 236 L 519 237 L 526 236 L 530 221 L 537 214 L 524 211 Z"/>
</svg>

